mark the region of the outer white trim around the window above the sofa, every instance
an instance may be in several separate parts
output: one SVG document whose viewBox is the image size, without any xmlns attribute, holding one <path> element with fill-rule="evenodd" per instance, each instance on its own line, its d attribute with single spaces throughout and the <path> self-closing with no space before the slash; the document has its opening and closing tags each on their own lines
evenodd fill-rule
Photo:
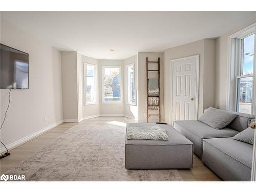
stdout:
<svg viewBox="0 0 256 192">
<path fill-rule="evenodd" d="M 237 74 L 240 74 L 240 70 L 238 66 L 236 66 L 234 55 L 239 54 L 235 53 L 236 44 L 235 38 L 242 38 L 245 36 L 248 36 L 250 34 L 253 34 L 256 32 L 256 23 L 253 23 L 246 28 L 233 33 L 232 35 L 228 36 L 228 66 L 227 66 L 227 90 L 226 90 L 226 110 L 229 111 L 236 111 L 237 109 Z M 240 55 L 240 54 L 239 54 Z M 254 59 L 253 59 L 253 83 L 255 87 L 256 84 L 256 38 L 254 37 Z M 252 88 L 253 89 L 253 88 Z M 251 103 L 251 113 L 256 114 L 256 89 L 252 90 L 253 92 L 253 98 Z"/>
</svg>

